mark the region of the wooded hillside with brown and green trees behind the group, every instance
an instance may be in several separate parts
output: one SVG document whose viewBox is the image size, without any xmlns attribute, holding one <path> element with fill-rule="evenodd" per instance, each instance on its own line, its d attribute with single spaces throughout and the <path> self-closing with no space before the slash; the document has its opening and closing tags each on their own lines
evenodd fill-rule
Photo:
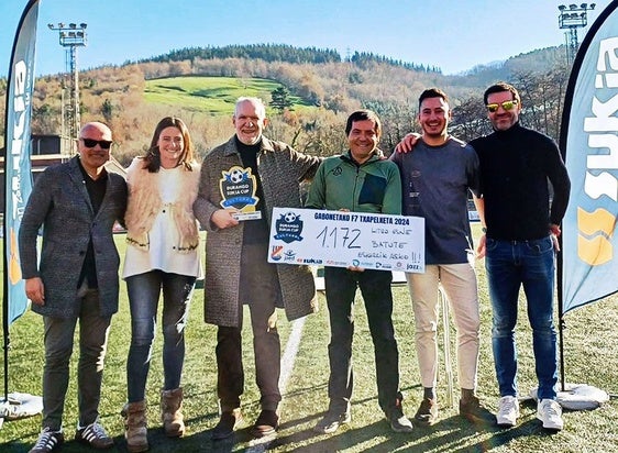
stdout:
<svg viewBox="0 0 618 453">
<path fill-rule="evenodd" d="M 225 91 L 223 80 L 238 80 L 234 96 L 250 92 L 254 81 L 267 80 L 273 90 L 251 91 L 271 106 L 269 137 L 290 143 L 297 150 L 330 155 L 345 147 L 344 122 L 358 108 L 375 110 L 384 123 L 380 147 L 389 153 L 416 126 L 417 99 L 429 87 L 442 88 L 454 108 L 452 133 L 463 140 L 486 133 L 488 123 L 482 93 L 487 85 L 507 80 L 521 91 L 522 122 L 558 139 L 570 68 L 563 47 L 537 49 L 506 62 L 477 66 L 456 76 L 444 76 L 437 67 L 355 53 L 341 58 L 335 51 L 296 48 L 287 45 L 253 44 L 219 48 L 185 48 L 121 66 L 104 66 L 79 74 L 81 122 L 102 120 L 114 132 L 115 156 L 128 164 L 145 151 L 158 120 L 181 118 L 191 132 L 199 155 L 233 133 L 231 109 L 222 113 L 209 107 L 208 96 L 191 88 L 198 98 L 179 97 L 178 102 L 157 101 L 147 90 L 154 80 L 170 79 L 179 92 L 185 81 L 199 84 L 212 93 L 214 77 L 221 78 L 217 96 Z M 32 129 L 34 134 L 60 134 L 62 99 L 66 98 L 67 76 L 46 75 L 35 82 Z M 275 85 L 272 85 L 275 84 Z M 2 102 L 5 79 L 0 79 Z M 208 90 L 206 87 L 208 86 Z M 245 91 L 243 91 L 243 88 Z M 278 90 L 279 103 L 273 99 Z M 187 91 L 188 92 L 188 91 Z M 284 95 L 284 104 L 282 101 Z M 185 93 L 186 95 L 186 93 Z M 212 95 L 214 96 L 214 95 Z M 275 93 L 277 97 L 277 93 Z M 289 104 L 286 100 L 291 100 Z M 4 128 L 3 112 L 0 118 Z M 2 136 L 3 136 L 3 130 Z M 3 145 L 3 144 L 0 144 Z"/>
</svg>

